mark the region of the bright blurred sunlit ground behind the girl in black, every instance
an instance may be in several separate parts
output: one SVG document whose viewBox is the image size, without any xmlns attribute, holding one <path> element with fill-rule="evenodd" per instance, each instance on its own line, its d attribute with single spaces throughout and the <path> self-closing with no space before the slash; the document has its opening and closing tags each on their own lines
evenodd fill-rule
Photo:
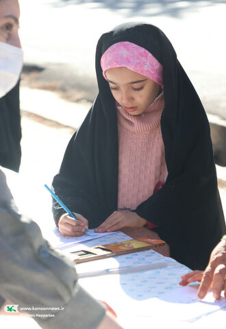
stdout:
<svg viewBox="0 0 226 329">
<path fill-rule="evenodd" d="M 171 40 L 208 113 L 225 208 L 226 1 L 19 2 L 25 54 L 21 173 L 27 180 L 51 184 L 58 172 L 69 138 L 97 95 L 95 49 L 101 34 L 123 22 L 145 21 Z"/>
</svg>

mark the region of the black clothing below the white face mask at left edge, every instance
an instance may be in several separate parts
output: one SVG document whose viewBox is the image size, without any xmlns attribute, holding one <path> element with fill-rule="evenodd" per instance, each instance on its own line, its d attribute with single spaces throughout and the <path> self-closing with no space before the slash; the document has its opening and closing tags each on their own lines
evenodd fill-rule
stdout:
<svg viewBox="0 0 226 329">
<path fill-rule="evenodd" d="M 21 164 L 19 82 L 0 99 L 0 165 L 18 172 Z"/>
</svg>

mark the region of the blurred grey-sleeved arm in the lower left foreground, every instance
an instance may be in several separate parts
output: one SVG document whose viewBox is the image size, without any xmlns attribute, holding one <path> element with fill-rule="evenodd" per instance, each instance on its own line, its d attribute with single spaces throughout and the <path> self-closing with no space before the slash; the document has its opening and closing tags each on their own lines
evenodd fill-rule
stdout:
<svg viewBox="0 0 226 329">
<path fill-rule="evenodd" d="M 105 307 L 77 283 L 74 263 L 55 252 L 38 225 L 18 215 L 0 171 L 0 295 L 19 307 L 60 307 L 64 310 L 27 310 L 42 328 L 97 328 Z M 1 303 L 2 306 L 2 303 Z M 89 310 L 87 313 L 86 310 Z"/>
</svg>

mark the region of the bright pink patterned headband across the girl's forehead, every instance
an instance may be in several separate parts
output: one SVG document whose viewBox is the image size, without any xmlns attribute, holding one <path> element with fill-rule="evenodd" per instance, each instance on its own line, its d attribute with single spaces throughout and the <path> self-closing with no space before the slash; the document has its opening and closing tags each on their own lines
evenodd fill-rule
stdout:
<svg viewBox="0 0 226 329">
<path fill-rule="evenodd" d="M 101 68 L 106 80 L 105 71 L 115 67 L 127 67 L 131 71 L 149 77 L 163 88 L 162 64 L 149 51 L 135 43 L 117 42 L 103 53 Z"/>
</svg>

